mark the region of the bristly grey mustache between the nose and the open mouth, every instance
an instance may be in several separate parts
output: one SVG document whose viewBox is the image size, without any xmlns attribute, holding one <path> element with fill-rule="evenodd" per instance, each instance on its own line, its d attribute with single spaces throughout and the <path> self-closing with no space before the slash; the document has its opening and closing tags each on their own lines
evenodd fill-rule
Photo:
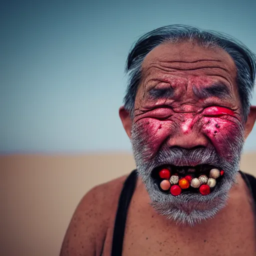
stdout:
<svg viewBox="0 0 256 256">
<path fill-rule="evenodd" d="M 213 147 L 185 149 L 181 147 L 161 147 L 151 159 L 154 167 L 162 164 L 195 166 L 200 164 L 212 164 L 217 166 L 221 158 Z"/>
</svg>

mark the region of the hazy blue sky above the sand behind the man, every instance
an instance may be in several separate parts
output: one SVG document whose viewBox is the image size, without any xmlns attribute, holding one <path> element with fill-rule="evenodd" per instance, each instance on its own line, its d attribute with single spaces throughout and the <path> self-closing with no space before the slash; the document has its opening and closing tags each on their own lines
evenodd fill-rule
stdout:
<svg viewBox="0 0 256 256">
<path fill-rule="evenodd" d="M 118 117 L 132 43 L 183 23 L 256 52 L 256 1 L 6 1 L 0 13 L 0 151 L 127 151 Z M 254 92 L 253 104 L 256 104 Z M 256 128 L 245 150 L 256 149 Z"/>
</svg>

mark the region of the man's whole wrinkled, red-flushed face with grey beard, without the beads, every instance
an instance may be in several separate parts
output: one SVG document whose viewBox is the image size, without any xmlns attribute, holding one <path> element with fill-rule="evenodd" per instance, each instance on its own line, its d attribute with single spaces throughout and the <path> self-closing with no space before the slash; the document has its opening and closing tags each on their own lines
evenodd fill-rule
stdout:
<svg viewBox="0 0 256 256">
<path fill-rule="evenodd" d="M 193 224 L 223 207 L 239 168 L 243 145 L 236 67 L 220 48 L 192 42 L 162 43 L 142 63 L 134 106 L 131 143 L 155 209 Z M 162 168 L 179 178 L 224 170 L 210 193 L 160 189 Z"/>
</svg>

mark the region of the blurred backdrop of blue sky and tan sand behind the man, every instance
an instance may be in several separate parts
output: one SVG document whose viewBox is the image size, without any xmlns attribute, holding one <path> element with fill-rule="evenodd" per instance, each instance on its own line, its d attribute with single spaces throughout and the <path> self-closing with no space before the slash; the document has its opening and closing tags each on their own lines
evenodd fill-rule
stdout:
<svg viewBox="0 0 256 256">
<path fill-rule="evenodd" d="M 140 35 L 189 24 L 256 52 L 255 9 L 251 0 L 1 1 L 0 255 L 57 256 L 81 197 L 135 167 L 118 108 Z M 254 127 L 241 161 L 254 175 L 255 142 Z"/>
</svg>

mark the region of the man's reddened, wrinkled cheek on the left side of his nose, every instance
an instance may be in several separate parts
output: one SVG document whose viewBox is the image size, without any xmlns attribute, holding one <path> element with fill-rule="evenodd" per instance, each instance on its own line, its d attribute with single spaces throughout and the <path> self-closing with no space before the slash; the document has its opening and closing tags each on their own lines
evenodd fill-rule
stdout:
<svg viewBox="0 0 256 256">
<path fill-rule="evenodd" d="M 149 159 L 157 153 L 162 142 L 170 135 L 171 121 L 143 118 L 134 124 L 132 139 L 139 141 L 143 158 Z"/>
</svg>

